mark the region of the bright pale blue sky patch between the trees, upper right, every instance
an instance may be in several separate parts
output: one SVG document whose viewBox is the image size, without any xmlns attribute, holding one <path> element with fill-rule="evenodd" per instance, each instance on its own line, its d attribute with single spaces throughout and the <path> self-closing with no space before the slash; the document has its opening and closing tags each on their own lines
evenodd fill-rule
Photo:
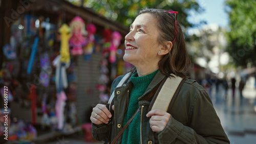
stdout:
<svg viewBox="0 0 256 144">
<path fill-rule="evenodd" d="M 207 24 L 217 24 L 219 27 L 226 28 L 228 25 L 228 15 L 225 12 L 225 0 L 196 0 L 205 11 L 201 14 L 191 13 L 187 19 L 189 22 L 205 20 Z"/>
</svg>

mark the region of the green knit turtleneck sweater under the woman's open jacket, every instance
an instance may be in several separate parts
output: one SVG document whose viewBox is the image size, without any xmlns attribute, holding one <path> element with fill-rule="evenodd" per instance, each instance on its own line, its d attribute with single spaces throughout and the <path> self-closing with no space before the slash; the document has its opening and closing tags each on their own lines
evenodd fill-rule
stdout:
<svg viewBox="0 0 256 144">
<path fill-rule="evenodd" d="M 138 77 L 138 74 L 135 73 L 131 77 L 133 86 L 130 92 L 129 106 L 127 111 L 124 113 L 123 126 L 129 121 L 133 116 L 136 110 L 139 108 L 138 98 L 146 91 L 147 86 L 151 83 L 155 77 L 158 70 L 154 71 L 152 74 Z M 122 143 L 140 143 L 140 118 L 139 112 L 133 118 L 133 121 L 130 125 L 124 130 L 122 134 Z"/>
</svg>

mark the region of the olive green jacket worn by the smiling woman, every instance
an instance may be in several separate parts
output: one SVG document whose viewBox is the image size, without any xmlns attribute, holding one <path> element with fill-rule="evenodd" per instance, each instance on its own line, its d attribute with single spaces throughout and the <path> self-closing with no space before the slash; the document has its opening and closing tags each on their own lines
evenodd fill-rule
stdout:
<svg viewBox="0 0 256 144">
<path fill-rule="evenodd" d="M 123 127 L 123 117 L 128 108 L 132 82 L 128 80 L 123 86 L 116 88 L 122 77 L 116 78 L 111 86 L 111 92 L 115 92 L 112 124 L 92 125 L 92 135 L 96 140 L 108 139 L 111 129 L 112 141 Z M 160 132 L 153 132 L 149 124 L 150 118 L 146 117 L 151 101 L 145 99 L 164 77 L 158 71 L 145 93 L 138 99 L 140 143 L 230 143 L 206 90 L 195 80 L 189 79 L 184 82 L 173 106 L 167 111 L 171 114 L 167 126 Z M 121 140 L 122 136 L 116 143 L 121 143 Z"/>
</svg>

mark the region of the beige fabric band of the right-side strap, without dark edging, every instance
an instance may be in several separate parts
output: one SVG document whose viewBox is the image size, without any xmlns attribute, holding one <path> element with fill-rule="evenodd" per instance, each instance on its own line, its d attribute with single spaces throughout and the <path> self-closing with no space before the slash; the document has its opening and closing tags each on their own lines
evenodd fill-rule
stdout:
<svg viewBox="0 0 256 144">
<path fill-rule="evenodd" d="M 172 100 L 176 89 L 178 88 L 180 82 L 183 79 L 183 78 L 178 77 L 176 75 L 173 75 L 173 74 L 171 74 L 171 75 L 174 76 L 175 78 L 174 77 L 168 78 L 164 82 L 164 84 L 163 84 L 163 86 L 162 86 L 162 88 L 161 88 L 161 90 L 160 90 L 160 92 L 157 96 L 157 99 L 156 99 L 156 101 L 155 101 L 155 103 L 152 107 L 152 110 L 153 109 L 160 109 L 160 110 L 163 110 L 163 111 L 167 111 L 169 103 Z"/>
</svg>

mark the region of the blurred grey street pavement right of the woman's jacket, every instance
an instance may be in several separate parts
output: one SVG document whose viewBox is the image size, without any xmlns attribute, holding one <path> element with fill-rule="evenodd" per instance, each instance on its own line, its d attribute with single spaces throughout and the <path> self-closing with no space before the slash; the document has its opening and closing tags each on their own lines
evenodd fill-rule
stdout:
<svg viewBox="0 0 256 144">
<path fill-rule="evenodd" d="M 241 97 L 238 88 L 233 97 L 231 88 L 225 92 L 222 85 L 218 90 L 212 86 L 208 93 L 230 143 L 256 143 L 256 99 Z"/>
</svg>

